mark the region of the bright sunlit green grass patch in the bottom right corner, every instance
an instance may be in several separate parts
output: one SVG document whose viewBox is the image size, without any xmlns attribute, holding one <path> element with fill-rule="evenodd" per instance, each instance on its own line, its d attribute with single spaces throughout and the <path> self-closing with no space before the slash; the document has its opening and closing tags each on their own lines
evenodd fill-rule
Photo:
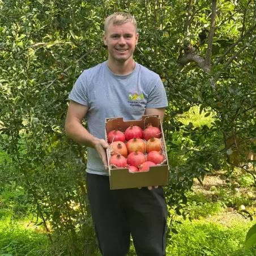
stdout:
<svg viewBox="0 0 256 256">
<path fill-rule="evenodd" d="M 234 223 L 225 227 L 206 220 L 186 221 L 176 227 L 168 241 L 168 256 L 255 256 L 255 246 L 244 249 L 245 236 L 249 228 L 256 223 Z"/>
</svg>

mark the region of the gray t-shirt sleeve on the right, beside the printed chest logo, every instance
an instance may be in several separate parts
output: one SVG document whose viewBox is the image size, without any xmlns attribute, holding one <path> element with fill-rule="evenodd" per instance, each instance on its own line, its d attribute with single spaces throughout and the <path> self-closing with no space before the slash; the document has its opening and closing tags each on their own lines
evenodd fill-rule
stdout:
<svg viewBox="0 0 256 256">
<path fill-rule="evenodd" d="M 160 76 L 154 80 L 148 88 L 148 101 L 146 108 L 167 108 L 168 100 L 165 92 L 164 84 Z"/>
</svg>

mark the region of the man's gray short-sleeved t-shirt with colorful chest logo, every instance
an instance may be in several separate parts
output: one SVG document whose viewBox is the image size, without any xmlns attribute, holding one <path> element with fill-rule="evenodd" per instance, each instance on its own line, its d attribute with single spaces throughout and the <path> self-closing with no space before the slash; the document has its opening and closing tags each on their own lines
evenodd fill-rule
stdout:
<svg viewBox="0 0 256 256">
<path fill-rule="evenodd" d="M 86 114 L 88 131 L 99 139 L 105 139 L 105 118 L 140 120 L 146 108 L 168 106 L 159 75 L 138 63 L 128 75 L 114 74 L 106 61 L 84 70 L 69 99 L 89 107 Z M 97 151 L 89 147 L 86 171 L 108 175 Z"/>
</svg>

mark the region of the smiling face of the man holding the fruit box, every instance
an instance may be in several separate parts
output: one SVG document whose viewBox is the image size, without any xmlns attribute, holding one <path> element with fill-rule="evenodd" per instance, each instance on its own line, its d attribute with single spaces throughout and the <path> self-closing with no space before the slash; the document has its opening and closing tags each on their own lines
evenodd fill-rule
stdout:
<svg viewBox="0 0 256 256">
<path fill-rule="evenodd" d="M 108 30 L 103 34 L 104 44 L 108 46 L 109 61 L 123 63 L 133 59 L 138 38 L 139 34 L 136 33 L 135 26 L 132 23 L 110 23 Z"/>
</svg>

